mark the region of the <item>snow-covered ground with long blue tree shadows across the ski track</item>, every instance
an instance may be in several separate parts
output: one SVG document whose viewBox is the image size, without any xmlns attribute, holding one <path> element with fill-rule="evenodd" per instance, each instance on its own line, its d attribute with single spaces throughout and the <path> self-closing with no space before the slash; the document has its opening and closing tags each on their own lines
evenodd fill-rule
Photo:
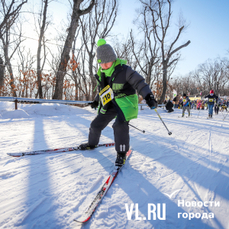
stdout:
<svg viewBox="0 0 229 229">
<path fill-rule="evenodd" d="M 73 221 L 112 170 L 114 147 L 14 158 L 10 152 L 77 146 L 96 111 L 0 102 L 0 228 L 229 229 L 229 115 L 166 113 L 168 135 L 146 108 L 130 127 L 133 154 L 91 220 Z M 112 123 L 100 143 L 113 142 Z M 151 220 L 150 220 L 151 218 Z"/>
</svg>

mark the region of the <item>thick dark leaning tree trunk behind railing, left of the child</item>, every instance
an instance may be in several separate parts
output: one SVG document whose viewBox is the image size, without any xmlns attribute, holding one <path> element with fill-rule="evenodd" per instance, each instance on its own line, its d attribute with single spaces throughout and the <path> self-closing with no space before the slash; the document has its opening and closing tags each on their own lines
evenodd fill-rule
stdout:
<svg viewBox="0 0 229 229">
<path fill-rule="evenodd" d="M 55 88 L 55 92 L 53 95 L 53 99 L 62 99 L 63 80 L 66 74 L 67 64 L 70 59 L 69 53 L 72 48 L 76 29 L 78 27 L 79 18 L 80 16 L 89 13 L 92 10 L 93 6 L 95 5 L 95 0 L 91 0 L 90 5 L 86 9 L 81 10 L 80 6 L 82 2 L 83 0 L 73 0 L 71 23 L 68 28 L 68 35 L 65 40 L 64 48 L 61 53 L 61 59 L 60 59 L 58 71 L 56 73 L 56 88 Z"/>
</svg>

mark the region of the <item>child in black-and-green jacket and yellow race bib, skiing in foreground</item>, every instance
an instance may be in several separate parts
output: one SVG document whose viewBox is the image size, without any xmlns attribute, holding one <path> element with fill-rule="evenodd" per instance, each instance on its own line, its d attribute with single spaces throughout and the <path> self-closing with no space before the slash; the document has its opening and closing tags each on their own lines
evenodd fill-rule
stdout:
<svg viewBox="0 0 229 229">
<path fill-rule="evenodd" d="M 144 78 L 127 66 L 126 60 L 117 58 L 113 48 L 104 39 L 97 42 L 97 62 L 100 67 L 95 75 L 98 81 L 99 94 L 91 103 L 98 109 L 98 115 L 91 122 L 88 142 L 81 144 L 82 150 L 94 149 L 102 130 L 115 118 L 113 124 L 115 149 L 117 151 L 116 166 L 125 163 L 129 150 L 129 121 L 137 118 L 138 96 L 145 99 L 151 109 L 157 102 Z"/>
</svg>

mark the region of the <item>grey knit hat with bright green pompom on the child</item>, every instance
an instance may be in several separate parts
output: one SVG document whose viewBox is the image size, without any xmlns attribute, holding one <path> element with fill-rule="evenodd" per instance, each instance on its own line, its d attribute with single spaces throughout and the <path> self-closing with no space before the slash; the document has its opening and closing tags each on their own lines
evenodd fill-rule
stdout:
<svg viewBox="0 0 229 229">
<path fill-rule="evenodd" d="M 97 46 L 97 61 L 99 64 L 113 62 L 117 59 L 113 48 L 104 39 L 99 39 Z"/>
</svg>

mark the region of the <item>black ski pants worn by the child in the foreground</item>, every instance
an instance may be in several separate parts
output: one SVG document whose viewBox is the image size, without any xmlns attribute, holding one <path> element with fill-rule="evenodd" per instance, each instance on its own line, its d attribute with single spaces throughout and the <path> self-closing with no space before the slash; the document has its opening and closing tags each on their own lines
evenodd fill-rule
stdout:
<svg viewBox="0 0 229 229">
<path fill-rule="evenodd" d="M 102 130 L 115 117 L 115 122 L 112 125 L 114 131 L 115 149 L 117 152 L 127 152 L 129 150 L 129 122 L 120 121 L 114 106 L 109 107 L 105 114 L 99 112 L 95 119 L 91 122 L 88 136 L 89 145 L 97 145 L 99 143 Z"/>
</svg>

